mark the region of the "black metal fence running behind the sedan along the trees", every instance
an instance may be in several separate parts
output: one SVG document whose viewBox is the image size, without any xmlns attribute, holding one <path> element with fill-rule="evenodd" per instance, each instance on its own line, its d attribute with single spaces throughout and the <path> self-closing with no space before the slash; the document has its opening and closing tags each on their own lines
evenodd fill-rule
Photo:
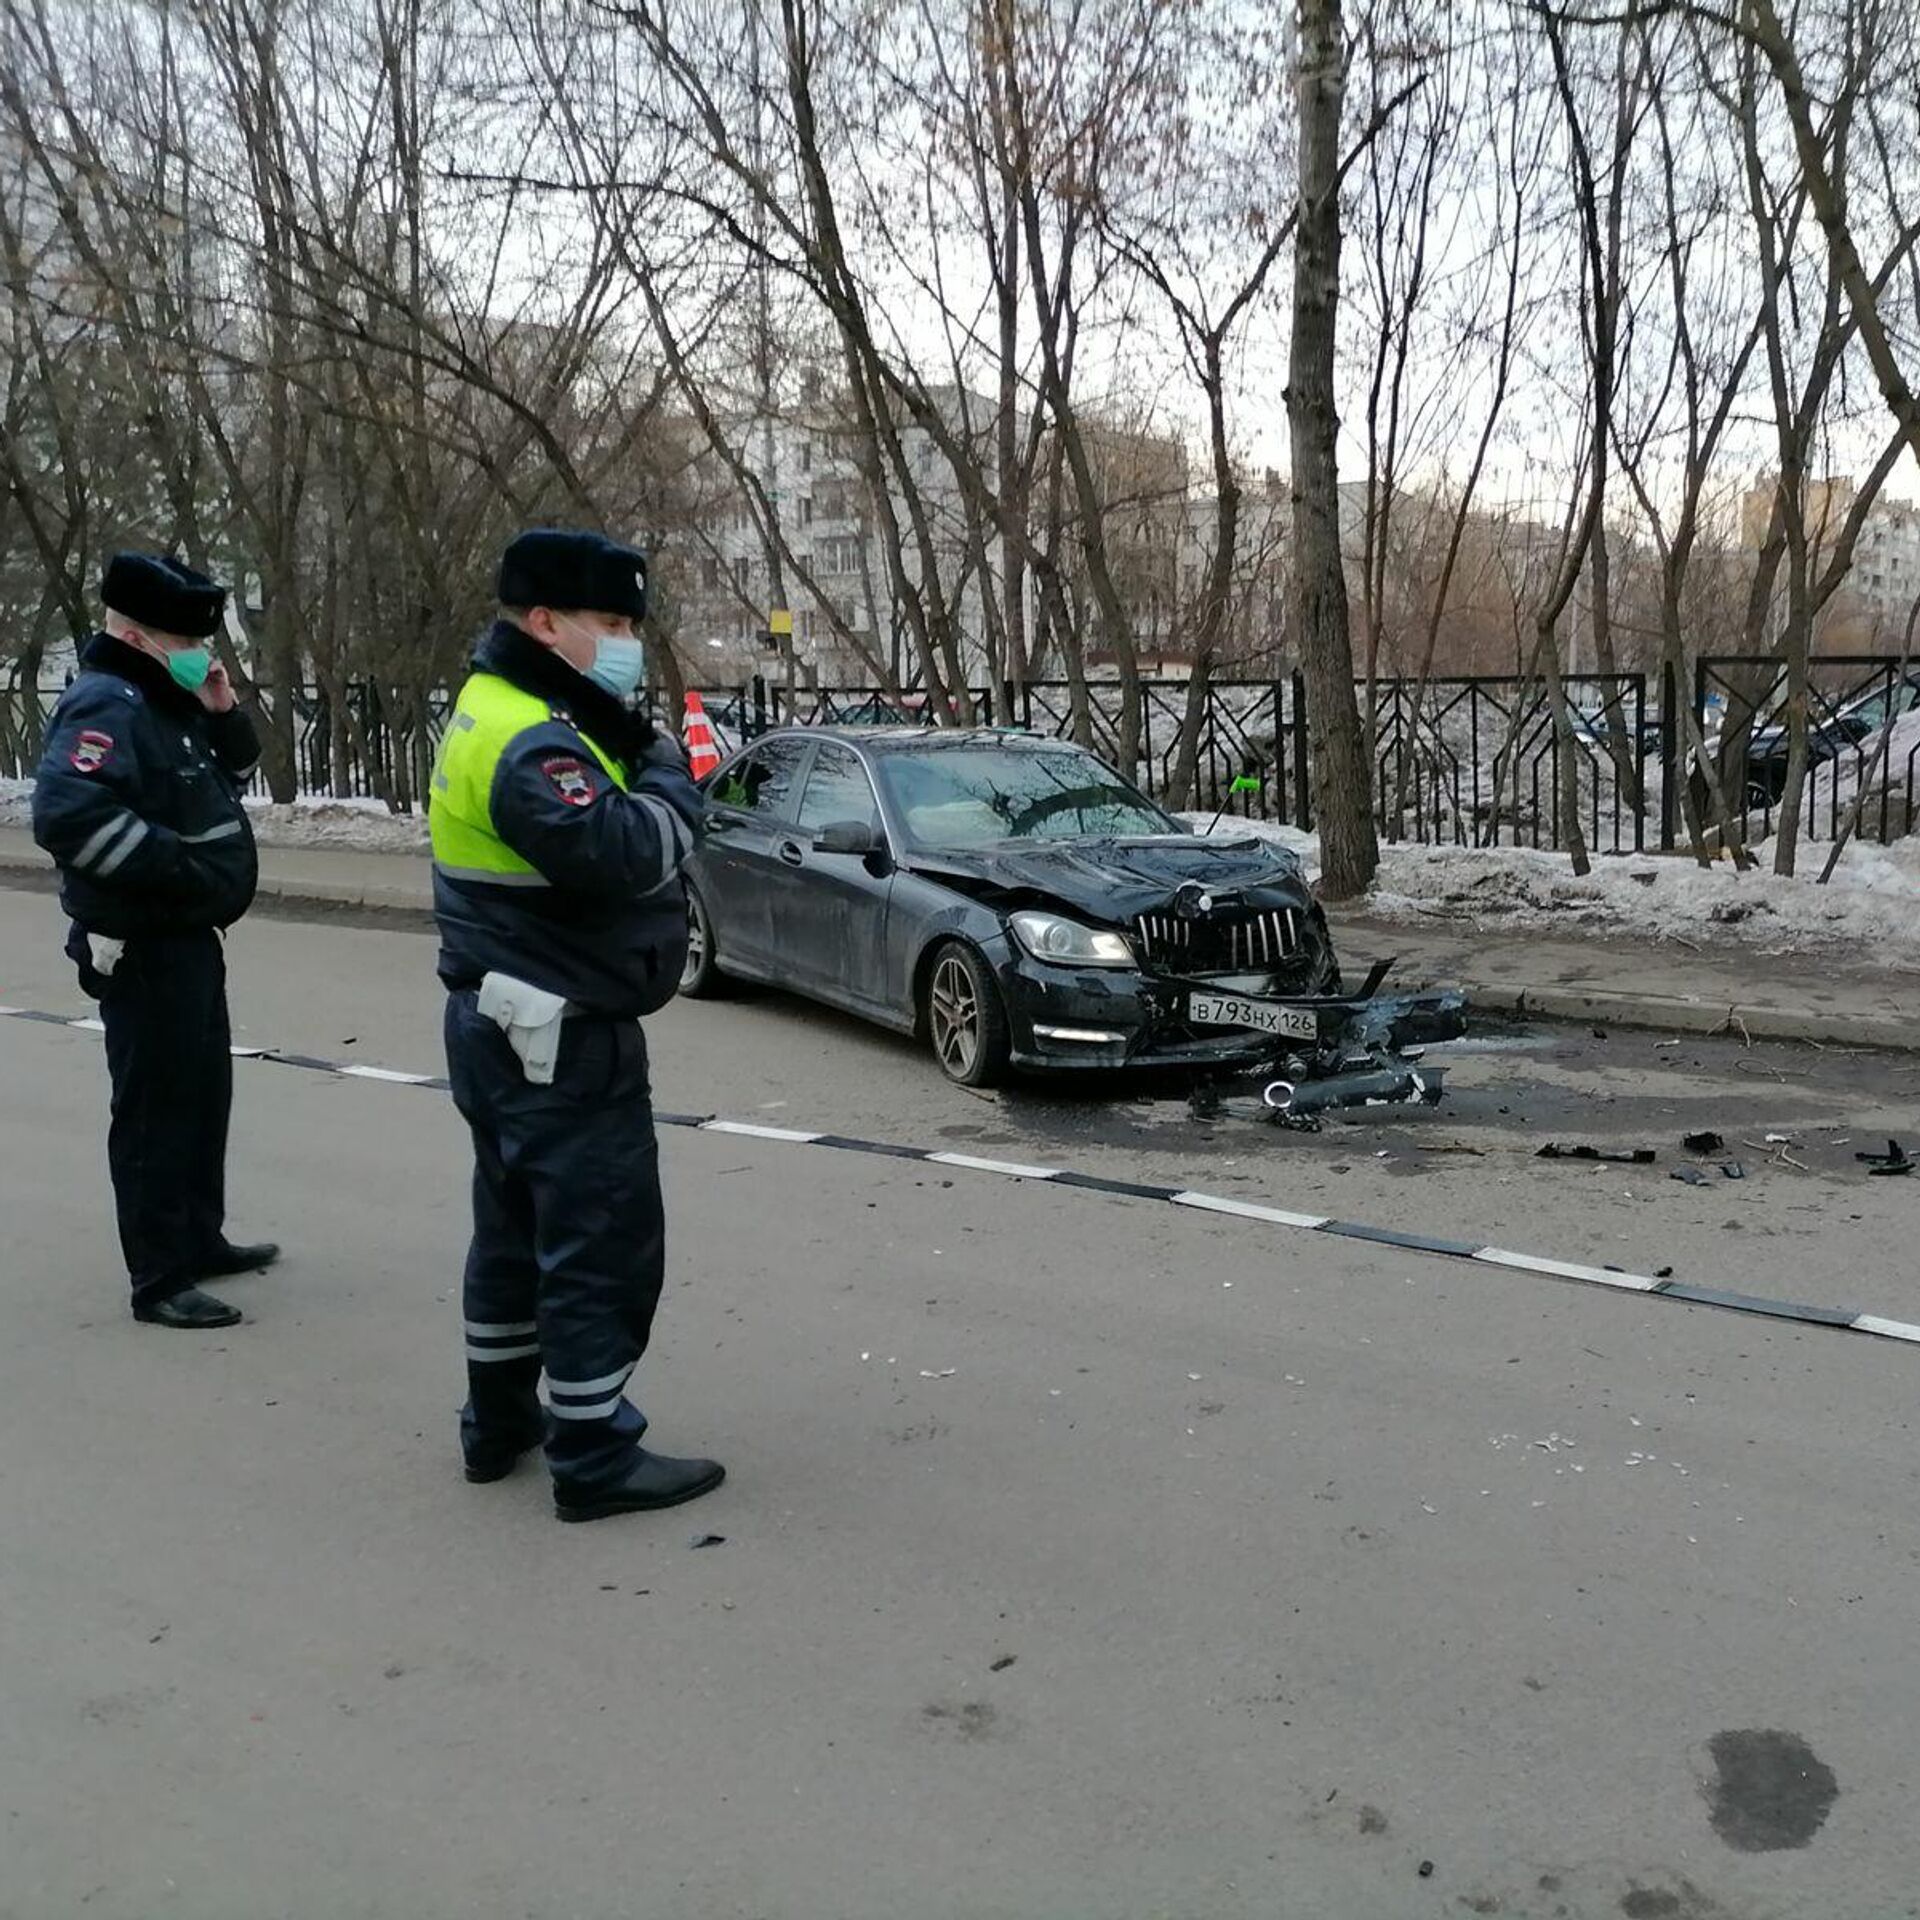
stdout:
<svg viewBox="0 0 1920 1920">
<path fill-rule="evenodd" d="M 1582 674 L 1565 682 L 1572 714 L 1561 741 L 1540 680 L 1453 676 L 1377 680 L 1361 685 L 1373 739 L 1373 799 L 1382 839 L 1427 845 L 1565 845 L 1567 795 L 1588 847 L 1638 852 L 1680 837 L 1682 793 L 1705 783 L 1688 758 L 1686 708 L 1672 676 L 1653 687 L 1645 674 Z M 789 693 L 756 678 L 739 687 L 699 689 L 724 745 L 741 745 L 776 726 L 935 726 L 958 712 L 935 710 L 922 693 L 879 687 L 803 687 Z M 983 724 L 1050 737 L 1085 733 L 1108 758 L 1119 756 L 1125 691 L 1116 682 L 1043 680 L 996 701 L 970 693 Z M 1306 687 L 1279 680 L 1215 680 L 1188 712 L 1187 680 L 1146 680 L 1135 726 L 1139 780 L 1175 795 L 1183 730 L 1194 724 L 1187 804 L 1212 812 L 1311 826 L 1315 749 Z M 0 695 L 0 774 L 33 772 L 38 724 L 56 699 L 42 691 Z M 1774 831 L 1788 772 L 1786 668 L 1776 659 L 1709 657 L 1695 668 L 1693 718 L 1724 791 L 1743 808 L 1749 839 Z M 664 697 L 655 695 L 664 707 Z M 342 699 L 315 685 L 292 693 L 294 776 L 301 793 L 380 799 L 407 808 L 428 791 L 434 747 L 449 693 L 355 684 Z M 1008 710 L 1010 708 L 1010 710 Z M 1882 751 L 1887 716 L 1895 730 Z M 1920 666 L 1874 657 L 1818 660 L 1811 672 L 1809 772 L 1801 833 L 1828 839 L 1860 803 L 1859 833 L 1899 839 L 1920 826 Z M 1252 791 L 1233 791 L 1252 778 Z"/>
</svg>

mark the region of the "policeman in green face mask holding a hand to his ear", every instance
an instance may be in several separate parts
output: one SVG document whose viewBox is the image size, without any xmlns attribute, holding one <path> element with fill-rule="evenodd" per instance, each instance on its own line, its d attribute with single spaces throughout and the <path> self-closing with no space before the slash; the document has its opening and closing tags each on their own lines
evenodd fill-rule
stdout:
<svg viewBox="0 0 1920 1920">
<path fill-rule="evenodd" d="M 252 904 L 240 783 L 259 758 L 207 647 L 227 589 L 179 561 L 115 553 L 102 632 L 54 708 L 33 835 L 60 862 L 67 954 L 106 1025 L 108 1165 L 134 1319 L 232 1327 L 196 1284 L 271 1265 L 225 1236 L 232 1054 L 221 933 Z"/>
</svg>

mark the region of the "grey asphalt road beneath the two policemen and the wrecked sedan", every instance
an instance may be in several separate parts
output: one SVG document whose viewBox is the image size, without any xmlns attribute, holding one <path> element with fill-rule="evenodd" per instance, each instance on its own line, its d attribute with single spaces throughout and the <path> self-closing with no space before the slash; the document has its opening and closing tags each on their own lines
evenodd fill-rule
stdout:
<svg viewBox="0 0 1920 1920">
<path fill-rule="evenodd" d="M 0 893 L 0 1002 L 84 1012 L 58 943 Z M 419 933 L 230 962 L 242 1041 L 438 1071 Z M 1914 1062 L 1492 1035 L 1283 1137 L 772 998 L 653 1037 L 662 1106 L 1920 1317 L 1920 1181 L 1853 1162 Z M 10 1920 L 1920 1912 L 1912 1348 L 676 1133 L 641 1398 L 732 1478 L 568 1528 L 459 1478 L 442 1096 L 244 1064 L 290 1258 L 190 1338 L 125 1315 L 98 1041 L 0 1073 Z M 1695 1127 L 1745 1181 L 1668 1179 Z"/>
</svg>

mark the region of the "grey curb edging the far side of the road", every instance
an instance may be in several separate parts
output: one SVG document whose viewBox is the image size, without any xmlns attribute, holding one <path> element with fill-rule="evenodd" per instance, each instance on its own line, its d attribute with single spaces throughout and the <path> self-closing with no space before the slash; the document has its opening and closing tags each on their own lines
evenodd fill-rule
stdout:
<svg viewBox="0 0 1920 1920">
<path fill-rule="evenodd" d="M 52 874 L 52 862 L 0 852 L 0 876 Z M 428 887 L 394 887 L 378 881 L 353 885 L 326 879 L 275 879 L 261 874 L 259 899 L 280 906 L 323 906 L 374 914 L 432 914 Z M 1891 1014 L 1849 1014 L 1834 1008 L 1789 1008 L 1764 1002 L 1724 1002 L 1680 995 L 1624 993 L 1609 987 L 1515 987 L 1511 981 L 1450 977 L 1463 987 L 1471 1006 L 1513 1020 L 1605 1021 L 1651 1033 L 1684 1033 L 1697 1039 L 1736 1035 L 1753 1041 L 1797 1041 L 1818 1046 L 1868 1046 L 1876 1052 L 1920 1052 L 1920 1021 Z"/>
</svg>

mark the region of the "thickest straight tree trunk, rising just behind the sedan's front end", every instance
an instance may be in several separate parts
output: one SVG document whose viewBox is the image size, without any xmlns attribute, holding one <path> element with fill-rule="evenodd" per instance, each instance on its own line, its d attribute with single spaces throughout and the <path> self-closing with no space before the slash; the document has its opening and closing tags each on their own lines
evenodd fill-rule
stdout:
<svg viewBox="0 0 1920 1920">
<path fill-rule="evenodd" d="M 1340 311 L 1340 108 L 1346 52 L 1340 0 L 1300 0 L 1300 223 L 1294 234 L 1294 328 L 1286 420 L 1294 457 L 1294 591 L 1300 664 L 1313 716 L 1313 808 L 1321 887 L 1365 893 L 1380 864 L 1373 778 L 1354 699 L 1354 639 L 1340 561 L 1334 338 Z"/>
</svg>

